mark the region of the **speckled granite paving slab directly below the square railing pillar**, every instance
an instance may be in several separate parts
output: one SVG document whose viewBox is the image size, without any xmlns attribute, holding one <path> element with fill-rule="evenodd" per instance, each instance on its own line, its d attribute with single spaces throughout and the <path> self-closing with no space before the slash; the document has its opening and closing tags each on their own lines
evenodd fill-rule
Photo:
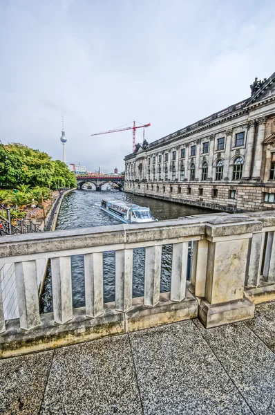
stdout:
<svg viewBox="0 0 275 415">
<path fill-rule="evenodd" d="M 200 333 L 245 398 L 254 414 L 275 414 L 275 355 L 251 331 L 246 322 Z"/>
</svg>

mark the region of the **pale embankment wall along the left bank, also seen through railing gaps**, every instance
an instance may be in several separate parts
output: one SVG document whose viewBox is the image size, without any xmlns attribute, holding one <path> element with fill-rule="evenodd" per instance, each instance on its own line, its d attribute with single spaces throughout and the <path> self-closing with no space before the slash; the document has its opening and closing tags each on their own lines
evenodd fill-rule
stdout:
<svg viewBox="0 0 275 415">
<path fill-rule="evenodd" d="M 50 208 L 48 215 L 46 216 L 46 225 L 49 224 L 49 230 L 54 231 L 57 225 L 57 219 L 59 215 L 59 210 L 61 203 L 64 197 L 73 192 L 75 189 L 66 190 L 63 192 L 60 197 L 58 197 L 53 203 L 53 206 Z M 48 223 L 51 216 L 53 220 Z M 44 224 L 41 225 L 40 230 L 44 230 Z M 5 237 L 3 237 L 5 238 Z M 16 235 L 15 235 L 16 238 Z M 39 297 L 44 288 L 44 281 L 48 269 L 48 259 L 37 259 L 37 288 Z M 19 317 L 18 310 L 18 301 L 17 301 L 17 291 L 16 291 L 16 281 L 15 281 L 15 264 L 5 264 L 0 266 L 0 292 L 3 300 L 3 312 L 5 320 L 12 320 Z"/>
</svg>

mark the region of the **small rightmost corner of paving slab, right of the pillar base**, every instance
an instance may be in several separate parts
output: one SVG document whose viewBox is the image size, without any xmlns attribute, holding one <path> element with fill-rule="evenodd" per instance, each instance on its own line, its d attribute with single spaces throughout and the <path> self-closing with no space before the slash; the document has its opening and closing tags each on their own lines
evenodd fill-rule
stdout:
<svg viewBox="0 0 275 415">
<path fill-rule="evenodd" d="M 275 302 L 256 306 L 256 318 L 245 324 L 275 352 Z"/>
</svg>

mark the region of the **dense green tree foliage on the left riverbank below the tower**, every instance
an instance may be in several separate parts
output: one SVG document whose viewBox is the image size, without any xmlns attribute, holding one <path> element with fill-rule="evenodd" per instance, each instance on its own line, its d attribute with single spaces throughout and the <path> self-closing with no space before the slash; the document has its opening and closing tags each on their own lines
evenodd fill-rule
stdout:
<svg viewBox="0 0 275 415">
<path fill-rule="evenodd" d="M 0 145 L 0 183 L 52 189 L 76 186 L 75 175 L 65 163 L 19 143 Z"/>
</svg>

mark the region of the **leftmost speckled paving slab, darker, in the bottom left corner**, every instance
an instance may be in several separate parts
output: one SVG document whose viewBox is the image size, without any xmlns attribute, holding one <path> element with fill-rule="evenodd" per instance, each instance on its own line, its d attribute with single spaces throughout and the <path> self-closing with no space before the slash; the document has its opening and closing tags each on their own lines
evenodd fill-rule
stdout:
<svg viewBox="0 0 275 415">
<path fill-rule="evenodd" d="M 0 360 L 0 414 L 39 414 L 53 353 Z"/>
</svg>

